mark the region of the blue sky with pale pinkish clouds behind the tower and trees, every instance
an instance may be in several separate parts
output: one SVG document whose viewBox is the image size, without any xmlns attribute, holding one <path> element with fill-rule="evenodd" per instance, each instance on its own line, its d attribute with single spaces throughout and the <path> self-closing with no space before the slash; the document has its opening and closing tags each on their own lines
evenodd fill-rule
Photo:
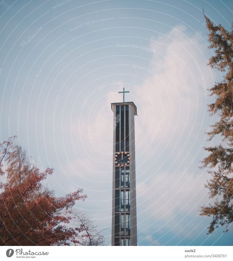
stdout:
<svg viewBox="0 0 233 261">
<path fill-rule="evenodd" d="M 232 1 L 4 0 L 0 2 L 0 139 L 18 140 L 57 196 L 83 188 L 85 211 L 111 242 L 112 102 L 137 106 L 137 231 L 140 246 L 231 245 L 207 235 L 210 178 L 200 161 L 218 120 L 207 89 L 223 75 L 202 10 L 231 30 Z"/>
</svg>

